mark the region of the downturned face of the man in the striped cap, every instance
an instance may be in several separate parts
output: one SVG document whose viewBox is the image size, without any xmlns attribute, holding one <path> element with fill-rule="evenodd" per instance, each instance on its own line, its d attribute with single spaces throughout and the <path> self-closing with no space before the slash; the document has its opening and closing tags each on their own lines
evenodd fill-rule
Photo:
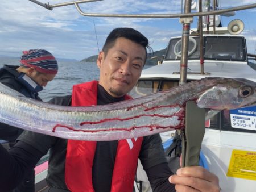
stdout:
<svg viewBox="0 0 256 192">
<path fill-rule="evenodd" d="M 52 81 L 55 77 L 55 74 L 39 73 L 34 68 L 30 69 L 28 70 L 27 75 L 42 87 L 45 87 L 47 83 Z"/>
</svg>

